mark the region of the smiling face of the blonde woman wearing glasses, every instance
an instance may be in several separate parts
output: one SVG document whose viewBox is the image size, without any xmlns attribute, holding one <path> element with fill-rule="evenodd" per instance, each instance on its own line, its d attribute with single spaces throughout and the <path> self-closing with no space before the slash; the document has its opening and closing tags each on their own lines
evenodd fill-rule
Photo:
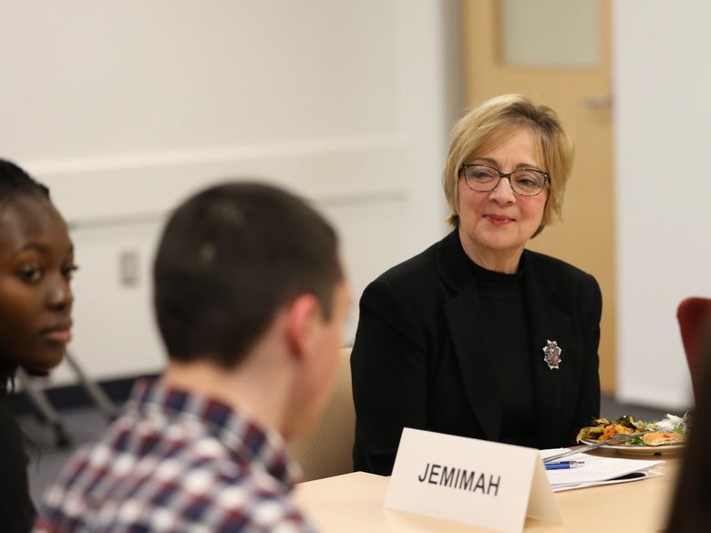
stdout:
<svg viewBox="0 0 711 533">
<path fill-rule="evenodd" d="M 546 170 L 541 168 L 535 138 L 527 128 L 467 163 L 485 163 L 507 174 L 521 167 Z M 538 196 L 519 196 L 508 179 L 500 179 L 496 189 L 477 192 L 461 177 L 457 187 L 459 239 L 464 250 L 485 268 L 515 272 L 523 247 L 541 225 L 548 190 Z"/>
</svg>

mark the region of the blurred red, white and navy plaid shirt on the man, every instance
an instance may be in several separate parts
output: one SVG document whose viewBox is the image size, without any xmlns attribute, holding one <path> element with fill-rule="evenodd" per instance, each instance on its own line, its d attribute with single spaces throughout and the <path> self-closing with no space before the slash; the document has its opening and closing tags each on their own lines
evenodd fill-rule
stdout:
<svg viewBox="0 0 711 533">
<path fill-rule="evenodd" d="M 45 493 L 35 531 L 314 531 L 283 440 L 227 405 L 141 381 Z"/>
</svg>

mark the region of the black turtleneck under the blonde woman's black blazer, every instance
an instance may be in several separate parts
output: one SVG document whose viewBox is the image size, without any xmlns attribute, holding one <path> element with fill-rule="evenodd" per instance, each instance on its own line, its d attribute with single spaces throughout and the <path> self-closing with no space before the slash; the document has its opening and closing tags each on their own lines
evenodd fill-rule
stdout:
<svg viewBox="0 0 711 533">
<path fill-rule="evenodd" d="M 523 260 L 518 272 L 513 274 L 489 271 L 473 261 L 471 265 L 503 400 L 500 440 L 536 447 L 536 408 L 523 295 Z"/>
</svg>

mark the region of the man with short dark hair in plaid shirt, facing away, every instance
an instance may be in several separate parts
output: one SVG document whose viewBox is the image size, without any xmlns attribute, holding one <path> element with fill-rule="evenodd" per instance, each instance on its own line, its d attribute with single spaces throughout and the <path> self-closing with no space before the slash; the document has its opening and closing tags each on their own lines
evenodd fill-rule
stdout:
<svg viewBox="0 0 711 533">
<path fill-rule="evenodd" d="M 36 531 L 311 531 L 284 439 L 330 392 L 349 294 L 335 231 L 257 183 L 176 210 L 154 263 L 169 355 L 45 494 Z"/>
</svg>

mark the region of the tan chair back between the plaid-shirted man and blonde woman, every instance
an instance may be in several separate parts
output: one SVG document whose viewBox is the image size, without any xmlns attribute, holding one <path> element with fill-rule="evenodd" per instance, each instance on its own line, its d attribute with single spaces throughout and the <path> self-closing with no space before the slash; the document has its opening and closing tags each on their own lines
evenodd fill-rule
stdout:
<svg viewBox="0 0 711 533">
<path fill-rule="evenodd" d="M 353 472 L 356 408 L 351 385 L 351 349 L 341 350 L 334 391 L 311 433 L 289 445 L 303 481 Z"/>
</svg>

